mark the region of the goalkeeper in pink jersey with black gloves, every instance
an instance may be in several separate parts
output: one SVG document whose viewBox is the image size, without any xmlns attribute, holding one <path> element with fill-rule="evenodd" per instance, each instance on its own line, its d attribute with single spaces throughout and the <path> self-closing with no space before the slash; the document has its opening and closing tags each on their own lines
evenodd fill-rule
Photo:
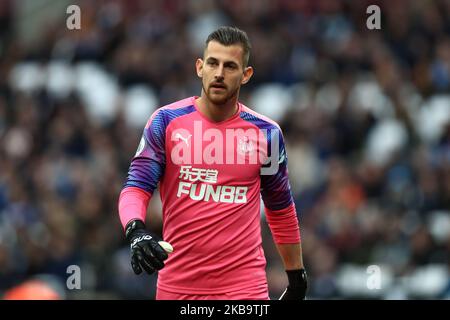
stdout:
<svg viewBox="0 0 450 320">
<path fill-rule="evenodd" d="M 281 129 L 238 100 L 253 74 L 249 56 L 242 30 L 211 33 L 196 61 L 201 95 L 157 109 L 131 161 L 119 215 L 134 272 L 159 270 L 156 299 L 269 299 L 261 198 L 289 281 L 280 298 L 305 298 Z M 170 254 L 144 224 L 158 183 Z"/>
</svg>

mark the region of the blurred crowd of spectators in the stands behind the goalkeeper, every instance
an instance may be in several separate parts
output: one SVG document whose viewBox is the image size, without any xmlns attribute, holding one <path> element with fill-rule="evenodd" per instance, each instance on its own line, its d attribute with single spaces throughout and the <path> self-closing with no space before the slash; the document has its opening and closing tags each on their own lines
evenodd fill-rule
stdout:
<svg viewBox="0 0 450 320">
<path fill-rule="evenodd" d="M 63 10 L 26 43 L 21 3 L 0 2 L 0 295 L 39 275 L 65 286 L 78 265 L 67 298 L 154 298 L 118 194 L 147 118 L 200 94 L 206 36 L 235 25 L 255 68 L 240 100 L 287 141 L 309 297 L 450 298 L 450 1 L 72 1 L 80 30 Z M 287 279 L 264 213 L 262 230 L 276 298 Z"/>
</svg>

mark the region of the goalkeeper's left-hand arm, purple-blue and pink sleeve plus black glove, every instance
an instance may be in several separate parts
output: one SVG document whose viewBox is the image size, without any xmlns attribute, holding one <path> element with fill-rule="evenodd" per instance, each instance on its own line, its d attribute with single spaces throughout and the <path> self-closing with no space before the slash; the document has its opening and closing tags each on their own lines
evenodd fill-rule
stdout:
<svg viewBox="0 0 450 320">
<path fill-rule="evenodd" d="M 152 274 L 164 267 L 167 253 L 158 238 L 145 228 L 148 203 L 165 166 L 165 127 L 162 113 L 156 111 L 141 138 L 131 161 L 128 177 L 119 197 L 119 217 L 130 243 L 131 266 L 136 274 Z"/>
</svg>

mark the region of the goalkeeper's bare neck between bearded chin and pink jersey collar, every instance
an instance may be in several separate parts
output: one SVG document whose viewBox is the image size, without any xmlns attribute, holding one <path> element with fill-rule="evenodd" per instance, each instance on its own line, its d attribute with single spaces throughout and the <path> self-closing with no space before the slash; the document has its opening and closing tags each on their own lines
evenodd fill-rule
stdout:
<svg viewBox="0 0 450 320">
<path fill-rule="evenodd" d="M 202 92 L 202 95 L 196 102 L 203 115 L 214 122 L 227 120 L 234 116 L 238 110 L 237 96 L 224 104 L 215 104 L 208 99 L 204 92 Z"/>
</svg>

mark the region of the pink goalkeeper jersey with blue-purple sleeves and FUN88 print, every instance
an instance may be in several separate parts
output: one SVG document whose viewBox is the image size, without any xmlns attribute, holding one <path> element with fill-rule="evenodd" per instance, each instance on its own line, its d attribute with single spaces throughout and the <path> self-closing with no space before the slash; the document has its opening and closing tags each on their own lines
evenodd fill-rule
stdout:
<svg viewBox="0 0 450 320">
<path fill-rule="evenodd" d="M 122 225 L 145 220 L 160 183 L 163 238 L 174 252 L 158 288 L 213 294 L 267 286 L 261 196 L 275 241 L 300 242 L 281 130 L 240 103 L 233 117 L 210 121 L 196 98 L 150 117 L 119 200 Z M 147 195 L 140 212 L 124 205 L 134 199 L 122 199 L 127 191 Z"/>
</svg>

